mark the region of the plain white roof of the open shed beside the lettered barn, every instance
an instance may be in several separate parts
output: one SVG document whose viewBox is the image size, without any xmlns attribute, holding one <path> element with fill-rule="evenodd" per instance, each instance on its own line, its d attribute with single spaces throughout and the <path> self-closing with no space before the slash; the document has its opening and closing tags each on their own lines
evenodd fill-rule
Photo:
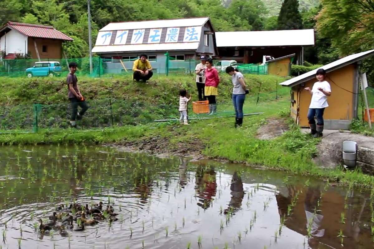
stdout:
<svg viewBox="0 0 374 249">
<path fill-rule="evenodd" d="M 215 32 L 217 47 L 314 45 L 314 29 Z"/>
</svg>

